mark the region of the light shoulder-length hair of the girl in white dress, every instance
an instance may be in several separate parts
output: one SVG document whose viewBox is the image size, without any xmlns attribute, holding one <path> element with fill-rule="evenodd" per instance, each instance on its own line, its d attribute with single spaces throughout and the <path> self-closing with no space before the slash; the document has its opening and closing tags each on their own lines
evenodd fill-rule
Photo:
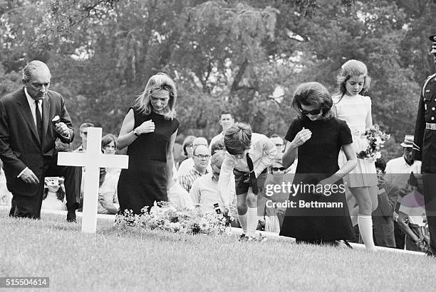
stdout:
<svg viewBox="0 0 436 292">
<path fill-rule="evenodd" d="M 348 60 L 341 66 L 338 76 L 336 76 L 336 82 L 338 83 L 338 93 L 346 94 L 346 82 L 352 76 L 364 76 L 362 92 L 367 92 L 370 88 L 371 78 L 368 76 L 368 69 L 363 62 L 358 60 Z"/>
</svg>

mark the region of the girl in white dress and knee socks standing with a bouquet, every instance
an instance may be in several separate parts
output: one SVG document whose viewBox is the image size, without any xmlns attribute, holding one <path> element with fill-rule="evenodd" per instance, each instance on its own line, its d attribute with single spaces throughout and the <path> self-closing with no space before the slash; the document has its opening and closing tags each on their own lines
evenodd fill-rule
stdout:
<svg viewBox="0 0 436 292">
<path fill-rule="evenodd" d="M 333 97 L 333 111 L 338 119 L 347 122 L 353 135 L 353 145 L 358 153 L 368 147 L 368 141 L 361 136 L 373 125 L 371 99 L 360 95 L 370 86 L 366 65 L 358 60 L 348 60 L 341 67 L 337 77 L 338 94 Z M 343 153 L 338 158 L 339 166 L 346 162 Z M 359 225 L 360 235 L 366 249 L 375 250 L 373 240 L 373 219 L 371 214 L 378 207 L 377 174 L 374 161 L 358 159 L 358 165 L 344 178 L 358 204 L 351 212 L 353 225 Z"/>
</svg>

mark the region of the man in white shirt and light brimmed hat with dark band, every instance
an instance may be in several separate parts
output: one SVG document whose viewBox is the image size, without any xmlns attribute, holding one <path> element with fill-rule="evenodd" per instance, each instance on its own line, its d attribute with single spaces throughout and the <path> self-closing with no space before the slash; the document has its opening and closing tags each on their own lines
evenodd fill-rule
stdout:
<svg viewBox="0 0 436 292">
<path fill-rule="evenodd" d="M 404 141 L 400 146 L 403 147 L 403 156 L 394 158 L 386 163 L 384 179 L 386 183 L 398 189 L 398 198 L 395 202 L 393 213 L 395 246 L 397 249 L 404 249 L 405 234 L 397 224 L 398 209 L 400 208 L 403 196 L 411 191 L 408 185 L 410 173 L 420 173 L 421 161 L 414 161 L 413 159 L 413 135 L 405 135 Z"/>
</svg>

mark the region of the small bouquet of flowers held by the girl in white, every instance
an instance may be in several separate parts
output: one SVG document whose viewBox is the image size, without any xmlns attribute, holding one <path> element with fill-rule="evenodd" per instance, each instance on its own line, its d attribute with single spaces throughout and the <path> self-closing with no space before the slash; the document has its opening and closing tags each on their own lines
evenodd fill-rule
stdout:
<svg viewBox="0 0 436 292">
<path fill-rule="evenodd" d="M 366 129 L 361 136 L 368 141 L 368 147 L 357 153 L 358 158 L 371 159 L 373 161 L 380 158 L 380 148 L 382 148 L 385 141 L 390 138 L 390 134 L 383 133 L 383 131 L 380 131 L 378 125 L 375 124 L 374 126 L 370 126 L 369 129 Z"/>
</svg>

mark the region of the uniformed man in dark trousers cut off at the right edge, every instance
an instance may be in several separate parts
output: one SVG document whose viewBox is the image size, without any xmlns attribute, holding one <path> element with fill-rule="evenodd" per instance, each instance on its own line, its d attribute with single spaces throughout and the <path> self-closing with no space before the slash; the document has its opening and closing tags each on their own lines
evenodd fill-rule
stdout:
<svg viewBox="0 0 436 292">
<path fill-rule="evenodd" d="M 436 35 L 430 36 L 430 40 L 433 42 L 430 53 L 436 65 Z M 422 161 L 425 212 L 430 231 L 430 249 L 426 254 L 436 256 L 436 74 L 427 77 L 422 86 L 413 149 L 415 159 Z"/>
</svg>

